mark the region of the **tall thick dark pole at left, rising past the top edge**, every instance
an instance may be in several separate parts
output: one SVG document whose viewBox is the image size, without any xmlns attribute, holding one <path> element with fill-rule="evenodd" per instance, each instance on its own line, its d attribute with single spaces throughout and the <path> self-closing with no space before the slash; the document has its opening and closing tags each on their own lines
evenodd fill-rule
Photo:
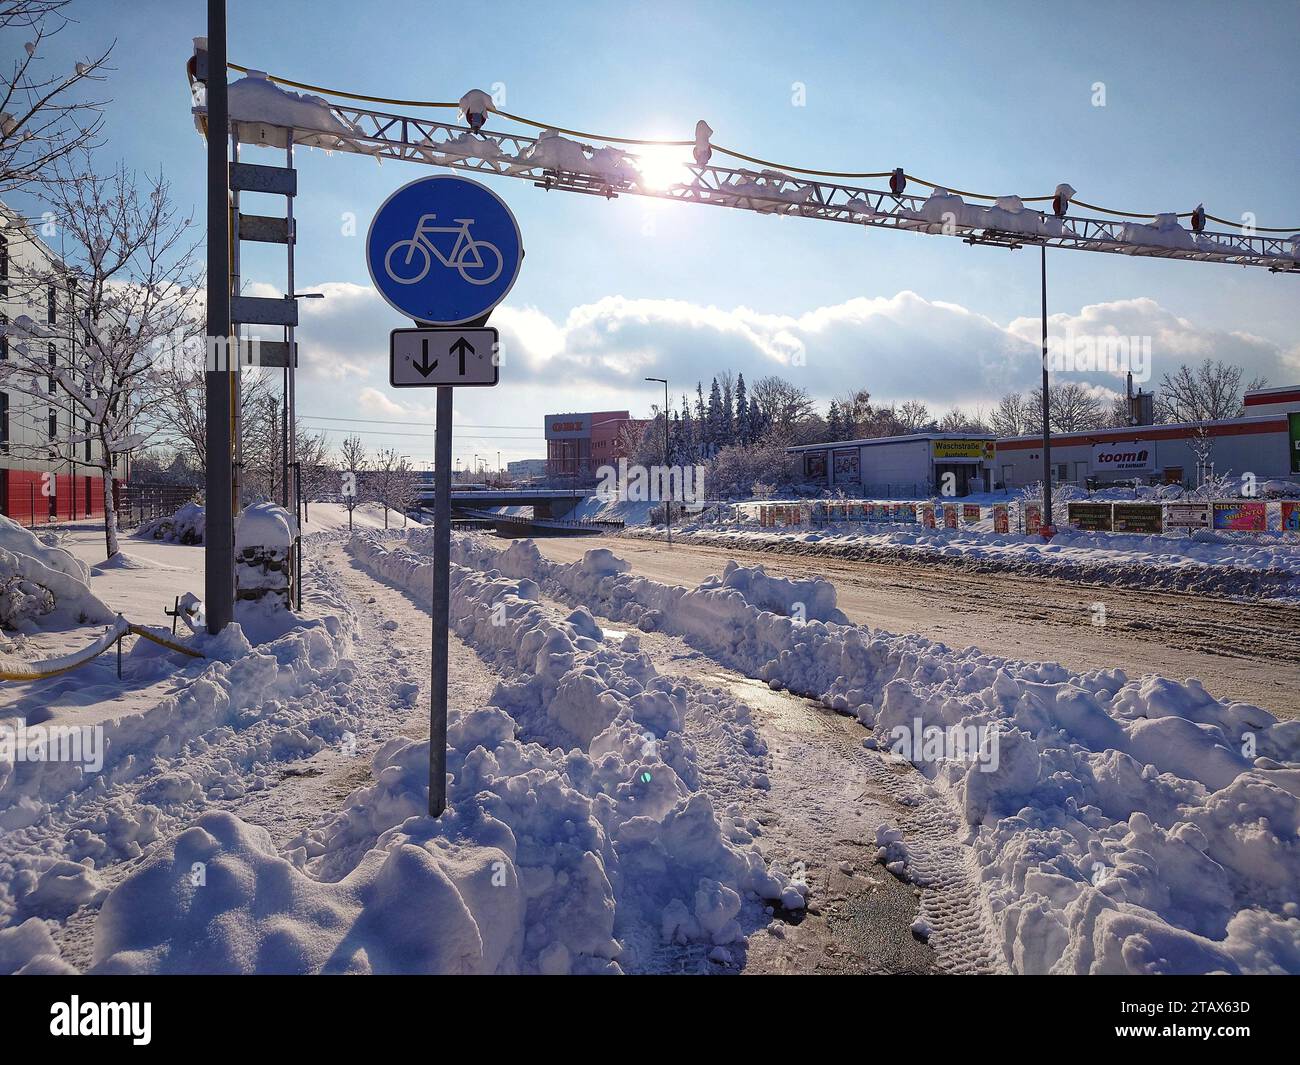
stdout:
<svg viewBox="0 0 1300 1065">
<path fill-rule="evenodd" d="M 226 161 L 226 4 L 208 0 L 208 362 L 207 533 L 203 537 L 208 632 L 234 616 L 234 468 L 230 455 L 230 169 Z M 238 351 L 235 354 L 238 358 Z"/>
</svg>

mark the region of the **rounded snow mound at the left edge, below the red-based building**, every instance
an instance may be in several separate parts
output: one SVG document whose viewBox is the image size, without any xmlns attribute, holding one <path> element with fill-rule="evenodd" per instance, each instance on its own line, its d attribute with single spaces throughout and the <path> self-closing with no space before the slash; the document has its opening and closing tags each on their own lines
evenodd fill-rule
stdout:
<svg viewBox="0 0 1300 1065">
<path fill-rule="evenodd" d="M 36 632 L 113 620 L 86 564 L 0 516 L 0 627 Z"/>
</svg>

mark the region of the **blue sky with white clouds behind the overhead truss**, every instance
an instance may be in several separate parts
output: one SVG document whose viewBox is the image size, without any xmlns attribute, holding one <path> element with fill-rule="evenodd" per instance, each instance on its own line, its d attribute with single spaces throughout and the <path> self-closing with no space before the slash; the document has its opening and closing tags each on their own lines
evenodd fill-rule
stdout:
<svg viewBox="0 0 1300 1065">
<path fill-rule="evenodd" d="M 1294 3 L 231 0 L 230 12 L 233 60 L 304 82 L 417 99 L 502 83 L 510 111 L 593 131 L 689 137 L 706 118 L 716 142 L 800 165 L 905 166 L 994 194 L 1066 181 L 1124 209 L 1204 202 L 1225 217 L 1300 225 Z M 118 39 L 107 153 L 161 165 L 177 199 L 202 208 L 183 65 L 205 4 L 82 3 L 78 17 L 56 56 Z M 307 308 L 304 411 L 432 423 L 426 404 L 387 389 L 387 329 L 402 322 L 368 291 L 363 242 L 393 189 L 436 170 L 306 151 L 299 169 L 299 287 L 330 293 Z M 512 377 L 507 350 L 493 395 L 458 399 L 467 460 L 541 454 L 546 411 L 644 414 L 654 397 L 640 378 L 656 371 L 675 390 L 697 376 L 707 390 L 727 365 L 776 371 L 824 398 L 855 385 L 941 411 L 988 406 L 1036 368 L 1019 339 L 1036 334 L 1019 321 L 1037 315 L 1034 252 L 489 181 L 528 248 L 497 316 L 520 358 Z M 341 233 L 347 212 L 355 237 Z M 281 285 L 265 265 L 261 280 Z M 1049 256 L 1049 269 L 1053 312 L 1072 321 L 1113 304 L 1091 319 L 1154 335 L 1157 380 L 1205 354 L 1271 384 L 1300 380 L 1300 278 L 1078 252 Z M 790 335 L 807 345 L 806 368 L 780 365 Z M 334 425 L 338 437 L 348 423 Z M 374 446 L 432 454 L 432 440 L 378 436 L 403 427 L 368 430 Z"/>
</svg>

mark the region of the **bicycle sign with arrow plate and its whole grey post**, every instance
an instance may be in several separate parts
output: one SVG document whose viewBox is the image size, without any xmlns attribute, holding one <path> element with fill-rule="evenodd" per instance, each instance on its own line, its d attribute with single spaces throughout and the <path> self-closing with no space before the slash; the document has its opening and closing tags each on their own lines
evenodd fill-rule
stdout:
<svg viewBox="0 0 1300 1065">
<path fill-rule="evenodd" d="M 451 395 L 499 381 L 498 334 L 485 328 L 519 276 L 515 216 L 476 181 L 438 174 L 404 185 L 374 215 L 365 260 L 374 287 L 416 329 L 389 334 L 389 384 L 438 390 L 433 445 L 433 657 L 429 814 L 447 808 L 447 628 L 451 612 Z M 464 326 L 464 328 L 447 328 Z"/>
</svg>

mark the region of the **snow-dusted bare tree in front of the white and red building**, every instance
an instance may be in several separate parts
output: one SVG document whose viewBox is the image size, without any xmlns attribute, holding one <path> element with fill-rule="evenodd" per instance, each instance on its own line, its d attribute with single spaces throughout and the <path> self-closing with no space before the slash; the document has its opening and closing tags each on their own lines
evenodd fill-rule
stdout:
<svg viewBox="0 0 1300 1065">
<path fill-rule="evenodd" d="M 68 261 L 12 278 L 47 313 L 5 326 L 16 343 L 14 358 L 0 363 L 0 386 L 49 408 L 49 438 L 26 450 L 100 471 L 112 558 L 120 550 L 113 473 L 148 442 L 161 401 L 152 355 L 191 313 L 196 243 L 161 174 L 142 189 L 124 166 L 100 177 L 88 153 L 81 161 L 51 186 Z M 56 430 L 60 420 L 66 434 Z"/>
</svg>

